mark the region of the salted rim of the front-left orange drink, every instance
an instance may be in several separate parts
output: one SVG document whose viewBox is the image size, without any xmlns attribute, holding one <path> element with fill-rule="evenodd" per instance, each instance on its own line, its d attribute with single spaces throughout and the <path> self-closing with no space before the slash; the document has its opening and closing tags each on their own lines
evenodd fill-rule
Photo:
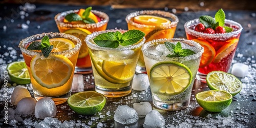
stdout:
<svg viewBox="0 0 256 128">
<path fill-rule="evenodd" d="M 41 52 L 37 52 L 37 51 L 33 51 L 33 50 L 27 50 L 24 45 L 31 42 L 31 41 L 35 41 L 35 40 L 39 40 L 42 39 L 44 36 L 48 35 L 49 38 L 66 38 L 72 41 L 77 42 L 75 47 L 70 49 L 70 50 L 66 50 L 66 51 L 61 51 L 61 52 L 51 52 L 49 54 L 50 55 L 64 55 L 68 58 L 70 58 L 71 56 L 73 56 L 74 54 L 76 54 L 77 52 L 79 52 L 79 49 L 82 45 L 81 40 L 79 38 L 77 38 L 76 36 L 70 35 L 70 34 L 65 34 L 65 33 L 59 33 L 59 32 L 49 32 L 49 33 L 42 33 L 42 34 L 36 34 L 36 35 L 32 35 L 29 36 L 23 40 L 21 40 L 19 42 L 18 47 L 20 48 L 20 50 L 25 53 L 26 55 L 29 56 L 34 56 L 34 55 L 42 55 Z"/>
</svg>

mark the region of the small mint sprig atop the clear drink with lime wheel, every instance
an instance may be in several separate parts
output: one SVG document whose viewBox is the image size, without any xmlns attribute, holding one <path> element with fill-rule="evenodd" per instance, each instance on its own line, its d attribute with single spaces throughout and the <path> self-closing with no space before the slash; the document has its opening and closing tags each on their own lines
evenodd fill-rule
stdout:
<svg viewBox="0 0 256 128">
<path fill-rule="evenodd" d="M 176 45 L 172 44 L 172 42 L 165 41 L 164 45 L 171 53 L 173 53 L 168 54 L 166 57 L 185 57 L 196 53 L 190 49 L 182 49 L 180 41 L 178 41 Z"/>
</svg>

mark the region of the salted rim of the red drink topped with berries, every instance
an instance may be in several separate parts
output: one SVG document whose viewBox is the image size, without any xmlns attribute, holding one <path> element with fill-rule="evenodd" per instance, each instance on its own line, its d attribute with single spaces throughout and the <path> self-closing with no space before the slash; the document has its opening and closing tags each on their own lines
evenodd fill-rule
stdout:
<svg viewBox="0 0 256 128">
<path fill-rule="evenodd" d="M 232 26 L 238 27 L 239 28 L 238 30 L 232 31 L 232 32 L 227 32 L 227 33 L 209 34 L 209 33 L 198 32 L 198 31 L 195 31 L 195 30 L 189 28 L 190 26 L 197 25 L 199 23 L 200 23 L 199 18 L 192 19 L 192 20 L 189 20 L 188 22 L 186 22 L 184 24 L 186 33 L 189 35 L 196 36 L 196 37 L 202 37 L 204 39 L 210 38 L 210 39 L 227 40 L 228 38 L 238 36 L 238 34 L 240 34 L 241 31 L 243 30 L 243 27 L 239 23 L 234 22 L 233 20 L 229 20 L 229 19 L 225 19 L 225 24 L 228 24 L 229 27 L 232 27 Z"/>
</svg>

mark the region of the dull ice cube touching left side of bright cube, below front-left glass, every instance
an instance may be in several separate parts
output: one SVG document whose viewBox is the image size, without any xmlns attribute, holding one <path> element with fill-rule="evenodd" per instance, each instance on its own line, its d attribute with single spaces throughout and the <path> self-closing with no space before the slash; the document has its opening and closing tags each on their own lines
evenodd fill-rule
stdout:
<svg viewBox="0 0 256 128">
<path fill-rule="evenodd" d="M 25 97 L 20 100 L 15 109 L 17 115 L 30 115 L 35 112 L 36 100 L 32 97 Z"/>
</svg>

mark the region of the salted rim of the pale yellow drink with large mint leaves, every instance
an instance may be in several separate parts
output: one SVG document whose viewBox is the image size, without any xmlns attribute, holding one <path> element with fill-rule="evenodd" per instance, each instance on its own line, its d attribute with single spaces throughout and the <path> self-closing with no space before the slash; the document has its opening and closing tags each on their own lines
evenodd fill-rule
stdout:
<svg viewBox="0 0 256 128">
<path fill-rule="evenodd" d="M 116 31 L 120 31 L 120 32 L 126 32 L 127 30 L 122 30 L 122 29 L 110 29 L 110 30 L 103 30 L 103 31 L 96 31 L 93 32 L 92 34 L 87 35 L 86 39 L 84 39 L 84 41 L 86 41 L 86 44 L 89 48 L 94 49 L 94 50 L 104 50 L 104 51 L 124 51 L 124 50 L 131 50 L 131 49 L 137 49 L 139 47 L 141 47 L 144 42 L 145 42 L 145 37 L 143 37 L 141 40 L 139 40 L 136 44 L 133 45 L 129 45 L 129 46 L 125 46 L 123 48 L 106 48 L 106 47 L 100 47 L 96 44 L 94 44 L 94 42 L 92 42 L 93 38 L 95 38 L 95 36 L 101 34 L 101 33 L 106 33 L 106 32 L 116 32 Z"/>
</svg>

